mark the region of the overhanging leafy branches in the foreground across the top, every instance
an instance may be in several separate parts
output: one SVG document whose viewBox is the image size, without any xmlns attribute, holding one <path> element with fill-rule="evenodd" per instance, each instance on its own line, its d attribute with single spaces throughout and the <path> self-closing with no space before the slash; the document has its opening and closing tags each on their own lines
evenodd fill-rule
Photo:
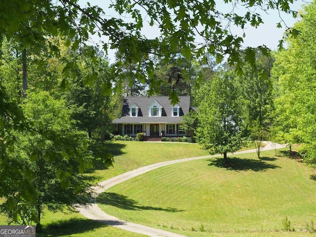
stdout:
<svg viewBox="0 0 316 237">
<path fill-rule="evenodd" d="M 47 39 L 56 38 L 57 35 L 67 36 L 74 40 L 71 47 L 78 50 L 85 44 L 90 34 L 99 34 L 109 37 L 109 44 L 116 48 L 118 52 L 124 54 L 124 61 L 129 65 L 138 65 L 135 75 L 148 75 L 154 78 L 153 55 L 158 55 L 167 62 L 170 56 L 180 53 L 188 60 L 193 56 L 197 59 L 203 57 L 208 52 L 221 61 L 228 54 L 230 65 L 237 63 L 237 70 L 241 71 L 240 53 L 243 51 L 241 43 L 242 37 L 234 36 L 227 29 L 230 23 L 244 29 L 247 23 L 257 27 L 263 23 L 260 14 L 252 8 L 263 10 L 279 9 L 287 13 L 293 13 L 289 8 L 289 3 L 293 0 L 269 0 L 262 2 L 243 1 L 240 2 L 246 11 L 244 15 L 239 15 L 234 11 L 220 12 L 216 9 L 214 0 L 200 1 L 133 1 L 118 0 L 111 4 L 111 7 L 118 14 L 129 14 L 133 21 L 124 22 L 123 18 L 104 18 L 106 13 L 97 6 L 87 7 L 79 5 L 78 0 L 9 0 L 0 3 L 0 21 L 5 24 L 0 27 L 0 35 L 17 42 L 21 42 L 21 47 L 32 46 L 36 52 L 40 45 L 47 42 Z M 234 2 L 234 5 L 239 2 Z M 145 15 L 150 17 L 149 24 L 158 25 L 160 36 L 155 39 L 147 39 L 142 35 L 143 15 L 139 8 L 142 8 Z M 227 25 L 226 25 L 227 24 Z M 280 25 L 280 23 L 279 23 Z M 198 27 L 197 27 L 198 26 Z M 16 33 L 19 34 L 16 34 Z M 197 36 L 205 40 L 205 43 L 196 44 Z M 2 40 L 2 38 L 1 38 Z M 69 41 L 70 42 L 70 41 Z M 107 50 L 108 43 L 103 43 L 103 48 Z M 50 42 L 51 54 L 58 55 L 58 40 Z M 265 48 L 260 50 L 265 52 Z M 246 61 L 253 62 L 254 50 L 250 47 L 244 50 L 247 54 Z M 88 52 L 91 53 L 91 52 Z M 95 53 L 92 53 L 93 57 Z M 121 61 L 113 65 L 113 71 L 119 72 Z M 68 65 L 68 66 L 67 66 Z M 67 69 L 74 67 L 72 62 L 68 62 Z M 146 65 L 144 68 L 141 65 Z M 151 80 L 151 87 L 156 87 L 156 82 Z M 174 95 L 175 96 L 175 95 Z M 173 98 L 173 102 L 176 98 Z"/>
</svg>

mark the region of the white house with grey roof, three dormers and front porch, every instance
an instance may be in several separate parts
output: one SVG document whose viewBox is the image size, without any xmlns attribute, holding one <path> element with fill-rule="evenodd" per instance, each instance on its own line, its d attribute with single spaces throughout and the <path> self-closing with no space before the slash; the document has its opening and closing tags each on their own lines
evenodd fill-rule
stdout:
<svg viewBox="0 0 316 237">
<path fill-rule="evenodd" d="M 179 96 L 180 102 L 172 105 L 168 96 L 124 97 L 122 115 L 114 119 L 114 134 L 146 137 L 183 137 L 182 116 L 190 111 L 190 96 Z"/>
</svg>

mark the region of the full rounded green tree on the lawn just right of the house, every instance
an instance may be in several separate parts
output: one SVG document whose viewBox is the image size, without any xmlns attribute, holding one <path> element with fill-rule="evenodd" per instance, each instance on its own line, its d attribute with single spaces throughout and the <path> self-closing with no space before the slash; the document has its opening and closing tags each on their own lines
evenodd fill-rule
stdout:
<svg viewBox="0 0 316 237">
<path fill-rule="evenodd" d="M 233 72 L 222 72 L 201 90 L 205 94 L 198 108 L 197 143 L 210 154 L 236 152 L 243 142 L 240 88 Z"/>
</svg>

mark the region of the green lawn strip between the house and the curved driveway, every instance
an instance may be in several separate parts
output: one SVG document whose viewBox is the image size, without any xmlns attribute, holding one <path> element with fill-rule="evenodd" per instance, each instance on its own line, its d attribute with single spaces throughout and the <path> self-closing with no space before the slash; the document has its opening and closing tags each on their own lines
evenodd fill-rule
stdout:
<svg viewBox="0 0 316 237">
<path fill-rule="evenodd" d="M 114 141 L 107 142 L 107 147 L 114 155 L 114 167 L 105 168 L 97 163 L 97 169 L 92 172 L 92 175 L 97 176 L 95 182 L 166 160 L 209 155 L 193 143 Z"/>
</svg>

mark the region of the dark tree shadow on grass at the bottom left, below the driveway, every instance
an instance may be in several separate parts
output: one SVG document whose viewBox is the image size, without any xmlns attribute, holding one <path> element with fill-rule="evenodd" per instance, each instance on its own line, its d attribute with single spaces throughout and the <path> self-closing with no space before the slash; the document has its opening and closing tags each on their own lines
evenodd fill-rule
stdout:
<svg viewBox="0 0 316 237">
<path fill-rule="evenodd" d="M 41 233 L 36 233 L 36 236 L 69 236 L 73 234 L 82 234 L 87 231 L 90 232 L 101 227 L 104 227 L 104 224 L 100 222 L 88 219 L 72 218 L 70 220 L 62 220 L 43 226 L 43 231 Z"/>
</svg>

